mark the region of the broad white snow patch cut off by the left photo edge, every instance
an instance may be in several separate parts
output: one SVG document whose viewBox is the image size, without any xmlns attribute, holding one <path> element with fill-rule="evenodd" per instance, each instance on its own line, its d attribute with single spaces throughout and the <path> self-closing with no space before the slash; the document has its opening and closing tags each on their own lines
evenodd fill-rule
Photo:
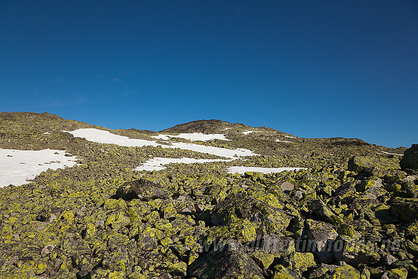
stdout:
<svg viewBox="0 0 418 279">
<path fill-rule="evenodd" d="M 54 153 L 59 154 L 54 154 Z M 10 156 L 7 156 L 10 155 Z M 0 149 L 0 187 L 21 186 L 30 182 L 47 169 L 72 167 L 76 164 L 75 157 L 64 156 L 60 150 L 13 150 Z"/>
</svg>

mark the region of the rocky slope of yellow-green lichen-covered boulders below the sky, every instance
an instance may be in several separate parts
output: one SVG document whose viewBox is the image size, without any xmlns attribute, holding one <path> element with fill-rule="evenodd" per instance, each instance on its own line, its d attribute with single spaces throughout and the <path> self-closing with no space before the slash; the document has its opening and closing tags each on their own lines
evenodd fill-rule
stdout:
<svg viewBox="0 0 418 279">
<path fill-rule="evenodd" d="M 61 132 L 92 127 L 147 140 L 157 134 L 0 113 L 0 148 L 51 148 L 79 159 L 0 188 L 0 279 L 417 278 L 417 146 L 195 121 L 160 133 L 222 133 L 231 141 L 193 143 L 261 156 L 135 171 L 153 157 L 217 156 Z M 394 155 L 404 152 L 402 160 Z M 227 173 L 234 165 L 306 169 Z"/>
</svg>

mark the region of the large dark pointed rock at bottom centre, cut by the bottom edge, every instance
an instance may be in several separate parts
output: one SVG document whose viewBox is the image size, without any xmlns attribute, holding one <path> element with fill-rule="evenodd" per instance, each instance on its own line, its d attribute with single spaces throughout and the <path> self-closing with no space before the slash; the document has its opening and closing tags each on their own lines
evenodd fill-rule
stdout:
<svg viewBox="0 0 418 279">
<path fill-rule="evenodd" d="M 220 249 L 209 251 L 191 264 L 189 273 L 199 279 L 265 278 L 263 270 L 237 240 L 230 240 Z"/>
</svg>

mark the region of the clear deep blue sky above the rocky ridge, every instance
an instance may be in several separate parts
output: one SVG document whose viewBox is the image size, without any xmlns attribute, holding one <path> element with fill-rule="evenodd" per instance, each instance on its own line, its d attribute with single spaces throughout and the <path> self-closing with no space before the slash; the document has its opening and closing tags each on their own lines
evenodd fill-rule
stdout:
<svg viewBox="0 0 418 279">
<path fill-rule="evenodd" d="M 418 142 L 418 2 L 0 1 L 0 111 Z"/>
</svg>

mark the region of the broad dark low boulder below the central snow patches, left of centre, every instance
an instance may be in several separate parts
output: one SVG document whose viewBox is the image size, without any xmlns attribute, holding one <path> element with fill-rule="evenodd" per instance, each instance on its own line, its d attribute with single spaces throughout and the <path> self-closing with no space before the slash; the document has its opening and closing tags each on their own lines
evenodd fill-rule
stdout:
<svg viewBox="0 0 418 279">
<path fill-rule="evenodd" d="M 140 179 L 124 183 L 116 190 L 116 196 L 124 200 L 140 199 L 149 201 L 151 199 L 166 198 L 167 194 L 158 183 Z"/>
</svg>

